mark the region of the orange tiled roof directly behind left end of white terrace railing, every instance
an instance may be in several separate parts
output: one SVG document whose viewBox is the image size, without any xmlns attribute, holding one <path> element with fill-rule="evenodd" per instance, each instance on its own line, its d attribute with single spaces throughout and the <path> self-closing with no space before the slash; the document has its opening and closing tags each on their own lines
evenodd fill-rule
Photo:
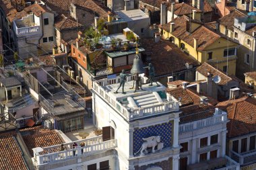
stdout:
<svg viewBox="0 0 256 170">
<path fill-rule="evenodd" d="M 25 128 L 20 130 L 22 138 L 30 151 L 30 155 L 33 155 L 32 148 L 36 147 L 48 147 L 64 142 L 63 138 L 55 130 L 44 129 L 42 126 L 35 126 L 33 128 Z"/>
</svg>

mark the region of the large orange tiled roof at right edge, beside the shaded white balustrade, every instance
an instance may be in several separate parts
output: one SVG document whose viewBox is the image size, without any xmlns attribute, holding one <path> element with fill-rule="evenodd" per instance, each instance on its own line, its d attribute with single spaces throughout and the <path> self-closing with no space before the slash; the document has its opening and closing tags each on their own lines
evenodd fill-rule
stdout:
<svg viewBox="0 0 256 170">
<path fill-rule="evenodd" d="M 256 132 L 256 100 L 251 97 L 218 103 L 228 114 L 228 138 Z"/>
</svg>

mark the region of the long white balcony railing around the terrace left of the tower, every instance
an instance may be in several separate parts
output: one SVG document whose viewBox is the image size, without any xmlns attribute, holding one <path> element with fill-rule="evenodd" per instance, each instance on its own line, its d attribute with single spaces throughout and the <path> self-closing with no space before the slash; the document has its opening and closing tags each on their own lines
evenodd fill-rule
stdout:
<svg viewBox="0 0 256 170">
<path fill-rule="evenodd" d="M 61 144 L 42 148 L 43 151 L 41 153 L 34 153 L 34 159 L 37 161 L 38 165 L 42 165 L 44 163 L 53 163 L 55 161 L 72 159 L 75 157 L 87 157 L 102 151 L 108 151 L 117 146 L 116 139 L 102 142 L 102 136 L 77 140 L 74 142 L 77 143 L 75 148 L 72 147 L 73 142 L 65 143 L 65 151 L 60 151 Z M 82 142 L 84 142 L 85 146 L 80 146 Z"/>
</svg>

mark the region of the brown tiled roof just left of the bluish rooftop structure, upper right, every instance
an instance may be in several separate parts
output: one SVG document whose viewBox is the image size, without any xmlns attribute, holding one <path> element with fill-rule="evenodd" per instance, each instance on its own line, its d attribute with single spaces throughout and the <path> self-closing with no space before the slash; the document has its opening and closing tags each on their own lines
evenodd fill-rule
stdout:
<svg viewBox="0 0 256 170">
<path fill-rule="evenodd" d="M 222 17 L 219 19 L 220 25 L 226 26 L 228 30 L 234 30 L 234 18 L 236 17 L 244 17 L 245 14 L 241 13 L 240 11 L 232 11 L 232 13 L 229 13 L 228 15 Z"/>
</svg>

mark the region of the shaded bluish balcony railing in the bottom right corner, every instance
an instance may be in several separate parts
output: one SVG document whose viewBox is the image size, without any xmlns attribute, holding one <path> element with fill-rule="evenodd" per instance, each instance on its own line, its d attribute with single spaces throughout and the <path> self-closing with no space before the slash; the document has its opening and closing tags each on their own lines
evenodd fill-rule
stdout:
<svg viewBox="0 0 256 170">
<path fill-rule="evenodd" d="M 234 161 L 240 163 L 240 165 L 249 165 L 252 163 L 256 163 L 256 150 L 248 151 L 246 153 L 236 153 L 231 151 L 231 158 Z"/>
</svg>

